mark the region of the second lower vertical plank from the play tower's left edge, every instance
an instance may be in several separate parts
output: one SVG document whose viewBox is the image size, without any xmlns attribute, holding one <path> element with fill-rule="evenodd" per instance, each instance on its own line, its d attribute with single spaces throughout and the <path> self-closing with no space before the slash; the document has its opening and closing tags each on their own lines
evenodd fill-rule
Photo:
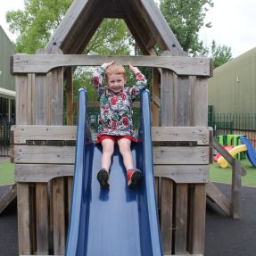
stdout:
<svg viewBox="0 0 256 256">
<path fill-rule="evenodd" d="M 47 184 L 36 185 L 36 211 L 37 211 L 37 254 L 48 254 L 48 194 Z"/>
</svg>

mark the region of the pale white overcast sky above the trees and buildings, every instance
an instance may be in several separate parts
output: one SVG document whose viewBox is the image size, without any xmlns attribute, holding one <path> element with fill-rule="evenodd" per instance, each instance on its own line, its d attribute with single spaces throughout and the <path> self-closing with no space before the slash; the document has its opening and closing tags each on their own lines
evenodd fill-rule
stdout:
<svg viewBox="0 0 256 256">
<path fill-rule="evenodd" d="M 255 0 L 213 0 L 214 7 L 210 8 L 204 19 L 211 21 L 211 29 L 202 28 L 199 37 L 203 45 L 210 47 L 214 39 L 217 45 L 231 47 L 233 57 L 256 47 L 256 1 Z M 9 32 L 5 22 L 7 11 L 23 9 L 24 0 L 0 0 L 0 25 L 7 36 L 14 41 L 15 36 Z"/>
</svg>

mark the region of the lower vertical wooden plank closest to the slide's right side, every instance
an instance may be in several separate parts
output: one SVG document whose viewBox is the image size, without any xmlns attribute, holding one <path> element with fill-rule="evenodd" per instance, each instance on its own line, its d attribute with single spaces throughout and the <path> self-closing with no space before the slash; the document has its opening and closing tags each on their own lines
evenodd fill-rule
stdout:
<svg viewBox="0 0 256 256">
<path fill-rule="evenodd" d="M 161 179 L 161 241 L 164 254 L 172 251 L 173 181 Z"/>
</svg>

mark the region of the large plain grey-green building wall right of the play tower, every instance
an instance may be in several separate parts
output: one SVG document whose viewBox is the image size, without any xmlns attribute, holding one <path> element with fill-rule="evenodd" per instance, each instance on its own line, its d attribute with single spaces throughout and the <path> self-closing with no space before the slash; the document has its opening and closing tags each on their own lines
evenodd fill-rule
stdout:
<svg viewBox="0 0 256 256">
<path fill-rule="evenodd" d="M 256 47 L 213 71 L 209 105 L 215 113 L 256 113 Z"/>
</svg>

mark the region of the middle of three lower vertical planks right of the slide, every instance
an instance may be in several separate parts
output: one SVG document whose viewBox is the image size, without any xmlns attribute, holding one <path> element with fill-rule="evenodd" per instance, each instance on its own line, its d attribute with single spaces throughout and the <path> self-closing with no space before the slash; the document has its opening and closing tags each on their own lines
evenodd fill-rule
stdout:
<svg viewBox="0 0 256 256">
<path fill-rule="evenodd" d="M 187 185 L 176 186 L 175 248 L 177 254 L 186 254 Z"/>
</svg>

